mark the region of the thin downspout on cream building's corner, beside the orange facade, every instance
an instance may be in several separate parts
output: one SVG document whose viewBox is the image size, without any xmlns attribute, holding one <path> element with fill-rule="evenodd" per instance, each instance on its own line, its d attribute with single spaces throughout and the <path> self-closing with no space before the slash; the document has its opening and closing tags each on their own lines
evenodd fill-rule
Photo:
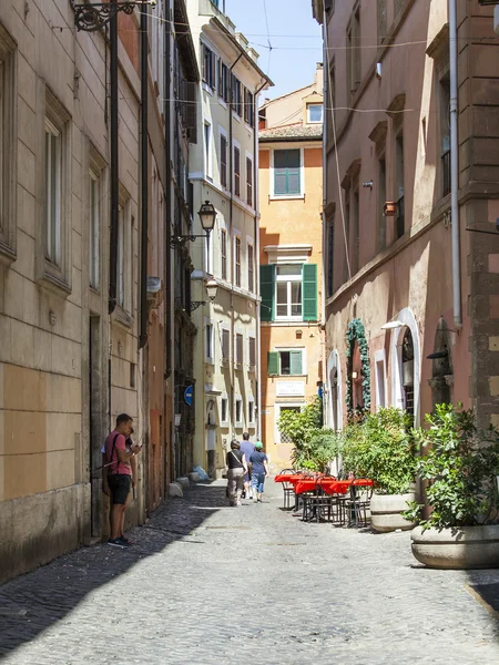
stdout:
<svg viewBox="0 0 499 665">
<path fill-rule="evenodd" d="M 265 88 L 265 83 L 254 92 L 253 94 L 253 191 L 254 191 L 254 203 L 255 203 L 255 219 L 254 219 L 254 231 L 253 235 L 255 238 L 255 252 L 254 252 L 254 263 L 255 263 L 255 286 L 256 294 L 259 294 L 259 192 L 258 192 L 258 164 L 259 164 L 259 141 L 258 141 L 258 119 L 257 119 L 257 106 L 256 101 L 258 99 L 258 94 Z M 258 269 L 256 269 L 258 268 Z M 259 303 L 256 301 L 256 438 L 262 440 L 262 364 L 259 362 L 259 357 L 262 354 L 262 345 L 261 345 L 261 311 L 259 311 Z"/>
</svg>

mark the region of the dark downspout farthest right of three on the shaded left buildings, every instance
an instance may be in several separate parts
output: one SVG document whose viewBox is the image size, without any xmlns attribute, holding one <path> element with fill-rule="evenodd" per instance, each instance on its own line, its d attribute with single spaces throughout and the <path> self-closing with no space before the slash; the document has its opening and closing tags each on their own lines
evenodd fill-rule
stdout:
<svg viewBox="0 0 499 665">
<path fill-rule="evenodd" d="M 172 376 L 172 294 L 171 294 L 171 276 L 172 276 L 172 248 L 170 247 L 170 241 L 172 237 L 172 160 L 171 160 L 171 124 L 172 124 L 172 110 L 171 110 L 171 86 L 172 76 L 170 71 L 171 51 L 172 51 L 172 10 L 171 0 L 166 0 L 166 14 L 167 21 L 164 23 L 164 119 L 165 119 L 165 136 L 164 136 L 164 160 L 165 160 L 165 345 L 166 345 L 166 367 L 164 372 L 164 379 L 169 379 Z"/>
</svg>

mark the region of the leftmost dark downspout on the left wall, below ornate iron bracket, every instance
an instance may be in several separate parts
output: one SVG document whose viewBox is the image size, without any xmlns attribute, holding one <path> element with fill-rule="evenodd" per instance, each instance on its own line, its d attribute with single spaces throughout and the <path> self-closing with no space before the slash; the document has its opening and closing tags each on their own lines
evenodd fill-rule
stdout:
<svg viewBox="0 0 499 665">
<path fill-rule="evenodd" d="M 111 4 L 116 0 L 111 0 Z M 111 180 L 111 233 L 109 254 L 109 314 L 116 307 L 118 266 L 118 12 L 110 20 L 110 180 Z"/>
</svg>

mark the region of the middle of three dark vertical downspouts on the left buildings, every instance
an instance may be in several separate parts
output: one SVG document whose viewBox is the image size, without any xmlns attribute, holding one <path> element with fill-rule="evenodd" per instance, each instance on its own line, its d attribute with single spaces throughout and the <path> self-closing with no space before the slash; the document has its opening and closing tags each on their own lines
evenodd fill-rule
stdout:
<svg viewBox="0 0 499 665">
<path fill-rule="evenodd" d="M 147 136 L 147 12 L 141 11 L 141 332 L 139 348 L 147 342 L 147 229 L 149 229 L 149 136 Z"/>
</svg>

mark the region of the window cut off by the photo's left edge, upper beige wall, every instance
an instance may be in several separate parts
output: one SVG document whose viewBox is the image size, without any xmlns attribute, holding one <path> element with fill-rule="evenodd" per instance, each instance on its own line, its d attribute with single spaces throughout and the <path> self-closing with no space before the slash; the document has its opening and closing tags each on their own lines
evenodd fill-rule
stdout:
<svg viewBox="0 0 499 665">
<path fill-rule="evenodd" d="M 0 252 L 14 258 L 17 246 L 16 42 L 0 24 Z"/>
</svg>

